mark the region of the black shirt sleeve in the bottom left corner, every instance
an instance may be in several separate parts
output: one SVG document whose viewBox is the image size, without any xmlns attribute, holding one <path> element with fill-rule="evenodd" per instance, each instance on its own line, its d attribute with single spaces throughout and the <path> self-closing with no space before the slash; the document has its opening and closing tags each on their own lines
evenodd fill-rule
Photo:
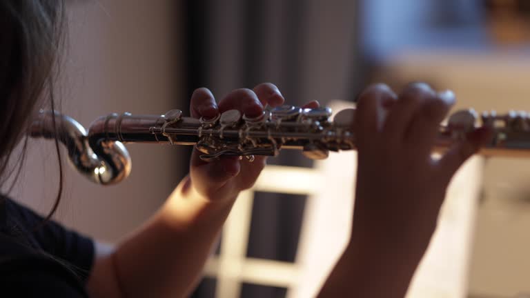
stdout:
<svg viewBox="0 0 530 298">
<path fill-rule="evenodd" d="M 0 196 L 0 296 L 88 297 L 91 239 Z M 7 295 L 9 293 L 9 295 Z"/>
</svg>

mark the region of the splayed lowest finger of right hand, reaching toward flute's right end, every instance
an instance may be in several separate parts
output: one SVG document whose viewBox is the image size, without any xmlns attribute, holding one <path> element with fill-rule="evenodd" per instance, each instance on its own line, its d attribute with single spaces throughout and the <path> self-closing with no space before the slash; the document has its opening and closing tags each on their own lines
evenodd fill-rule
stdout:
<svg viewBox="0 0 530 298">
<path fill-rule="evenodd" d="M 484 146 L 492 135 L 491 128 L 482 127 L 469 133 L 466 140 L 459 141 L 438 160 L 438 175 L 440 181 L 449 183 L 455 172 L 462 164 Z"/>
</svg>

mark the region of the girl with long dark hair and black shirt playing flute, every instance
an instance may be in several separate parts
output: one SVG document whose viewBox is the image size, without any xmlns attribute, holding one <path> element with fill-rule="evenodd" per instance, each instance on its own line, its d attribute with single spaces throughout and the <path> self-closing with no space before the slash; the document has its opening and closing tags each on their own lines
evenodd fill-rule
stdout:
<svg viewBox="0 0 530 298">
<path fill-rule="evenodd" d="M 36 108 L 42 100 L 53 108 L 52 70 L 62 22 L 59 0 L 0 1 L 1 181 Z M 238 109 L 253 117 L 266 104 L 283 102 L 271 83 L 234 90 L 219 103 L 202 88 L 191 98 L 190 113 L 210 118 Z M 424 84 L 408 86 L 399 96 L 384 85 L 362 93 L 355 119 L 353 232 L 320 297 L 404 295 L 435 229 L 447 184 L 487 136 L 474 132 L 470 141 L 433 161 L 438 124 L 453 103 L 451 92 L 438 94 Z M 188 177 L 115 247 L 66 230 L 49 220 L 52 213 L 43 218 L 1 197 L 0 290 L 17 297 L 184 297 L 199 279 L 237 195 L 253 185 L 265 163 L 264 157 L 206 163 L 193 152 Z"/>
</svg>

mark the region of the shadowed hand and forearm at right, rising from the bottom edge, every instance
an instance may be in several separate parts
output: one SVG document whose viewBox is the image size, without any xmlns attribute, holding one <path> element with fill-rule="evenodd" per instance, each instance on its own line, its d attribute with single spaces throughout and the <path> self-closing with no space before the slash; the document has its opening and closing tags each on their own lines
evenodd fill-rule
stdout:
<svg viewBox="0 0 530 298">
<path fill-rule="evenodd" d="M 487 129 L 455 143 L 440 159 L 431 150 L 455 97 L 424 83 L 400 95 L 383 84 L 357 102 L 357 188 L 351 241 L 319 298 L 404 297 L 436 228 L 446 188 L 489 138 Z"/>
</svg>

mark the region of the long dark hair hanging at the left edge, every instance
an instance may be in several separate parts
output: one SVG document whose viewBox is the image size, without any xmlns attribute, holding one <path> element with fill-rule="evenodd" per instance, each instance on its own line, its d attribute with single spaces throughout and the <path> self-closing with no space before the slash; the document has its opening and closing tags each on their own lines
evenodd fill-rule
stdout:
<svg viewBox="0 0 530 298">
<path fill-rule="evenodd" d="M 14 148 L 23 140 L 26 154 L 28 124 L 39 103 L 55 109 L 53 75 L 61 48 L 64 26 L 64 3 L 61 0 L 0 1 L 0 186 L 10 177 L 8 161 Z M 62 190 L 62 165 L 59 143 L 59 192 L 49 219 L 59 204 Z"/>
</svg>

